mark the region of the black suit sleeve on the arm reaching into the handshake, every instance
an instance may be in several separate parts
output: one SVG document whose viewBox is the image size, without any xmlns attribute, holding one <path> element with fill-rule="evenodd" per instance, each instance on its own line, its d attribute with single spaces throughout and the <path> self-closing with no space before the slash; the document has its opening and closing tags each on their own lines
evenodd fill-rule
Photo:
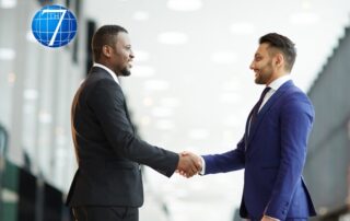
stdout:
<svg viewBox="0 0 350 221">
<path fill-rule="evenodd" d="M 172 176 L 178 154 L 138 139 L 130 125 L 119 85 L 110 80 L 100 81 L 89 94 L 88 105 L 94 112 L 113 150 L 118 156 L 129 159 L 158 172 Z"/>
</svg>

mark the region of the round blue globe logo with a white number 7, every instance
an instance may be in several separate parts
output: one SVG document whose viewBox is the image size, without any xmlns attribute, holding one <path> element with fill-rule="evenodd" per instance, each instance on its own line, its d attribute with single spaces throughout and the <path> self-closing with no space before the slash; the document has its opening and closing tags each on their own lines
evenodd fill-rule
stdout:
<svg viewBox="0 0 350 221">
<path fill-rule="evenodd" d="M 47 5 L 33 18 L 34 37 L 47 47 L 61 47 L 72 40 L 77 33 L 74 14 L 61 5 Z"/>
</svg>

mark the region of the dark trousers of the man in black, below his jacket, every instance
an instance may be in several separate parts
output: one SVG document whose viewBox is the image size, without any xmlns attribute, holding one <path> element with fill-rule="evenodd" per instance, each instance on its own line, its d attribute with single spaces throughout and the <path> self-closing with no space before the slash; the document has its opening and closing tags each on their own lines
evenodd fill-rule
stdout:
<svg viewBox="0 0 350 221">
<path fill-rule="evenodd" d="M 72 208 L 74 221 L 139 221 L 139 209 L 133 207 L 95 207 Z"/>
</svg>

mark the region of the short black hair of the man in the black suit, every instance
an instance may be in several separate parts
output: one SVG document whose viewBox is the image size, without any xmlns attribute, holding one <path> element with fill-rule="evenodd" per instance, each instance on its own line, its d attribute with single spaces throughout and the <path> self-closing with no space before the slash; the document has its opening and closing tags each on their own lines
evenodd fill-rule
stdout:
<svg viewBox="0 0 350 221">
<path fill-rule="evenodd" d="M 104 25 L 95 32 L 91 43 L 94 61 L 100 60 L 103 46 L 115 45 L 119 32 L 128 33 L 126 28 L 119 25 Z"/>
</svg>

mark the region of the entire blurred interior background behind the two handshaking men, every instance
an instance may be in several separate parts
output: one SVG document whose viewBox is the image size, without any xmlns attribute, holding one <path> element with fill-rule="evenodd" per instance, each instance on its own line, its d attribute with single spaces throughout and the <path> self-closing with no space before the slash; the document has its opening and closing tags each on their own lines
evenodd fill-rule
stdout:
<svg viewBox="0 0 350 221">
<path fill-rule="evenodd" d="M 77 16 L 66 47 L 44 47 L 32 34 L 46 4 Z M 290 37 L 292 78 L 316 112 L 304 170 L 315 220 L 350 220 L 349 0 L 0 0 L 0 220 L 70 220 L 62 206 L 77 170 L 70 106 L 104 24 L 129 31 L 136 58 L 120 81 L 139 136 L 198 154 L 235 148 L 262 90 L 248 69 L 258 38 Z M 140 221 L 241 220 L 242 171 L 143 175 Z"/>
</svg>

